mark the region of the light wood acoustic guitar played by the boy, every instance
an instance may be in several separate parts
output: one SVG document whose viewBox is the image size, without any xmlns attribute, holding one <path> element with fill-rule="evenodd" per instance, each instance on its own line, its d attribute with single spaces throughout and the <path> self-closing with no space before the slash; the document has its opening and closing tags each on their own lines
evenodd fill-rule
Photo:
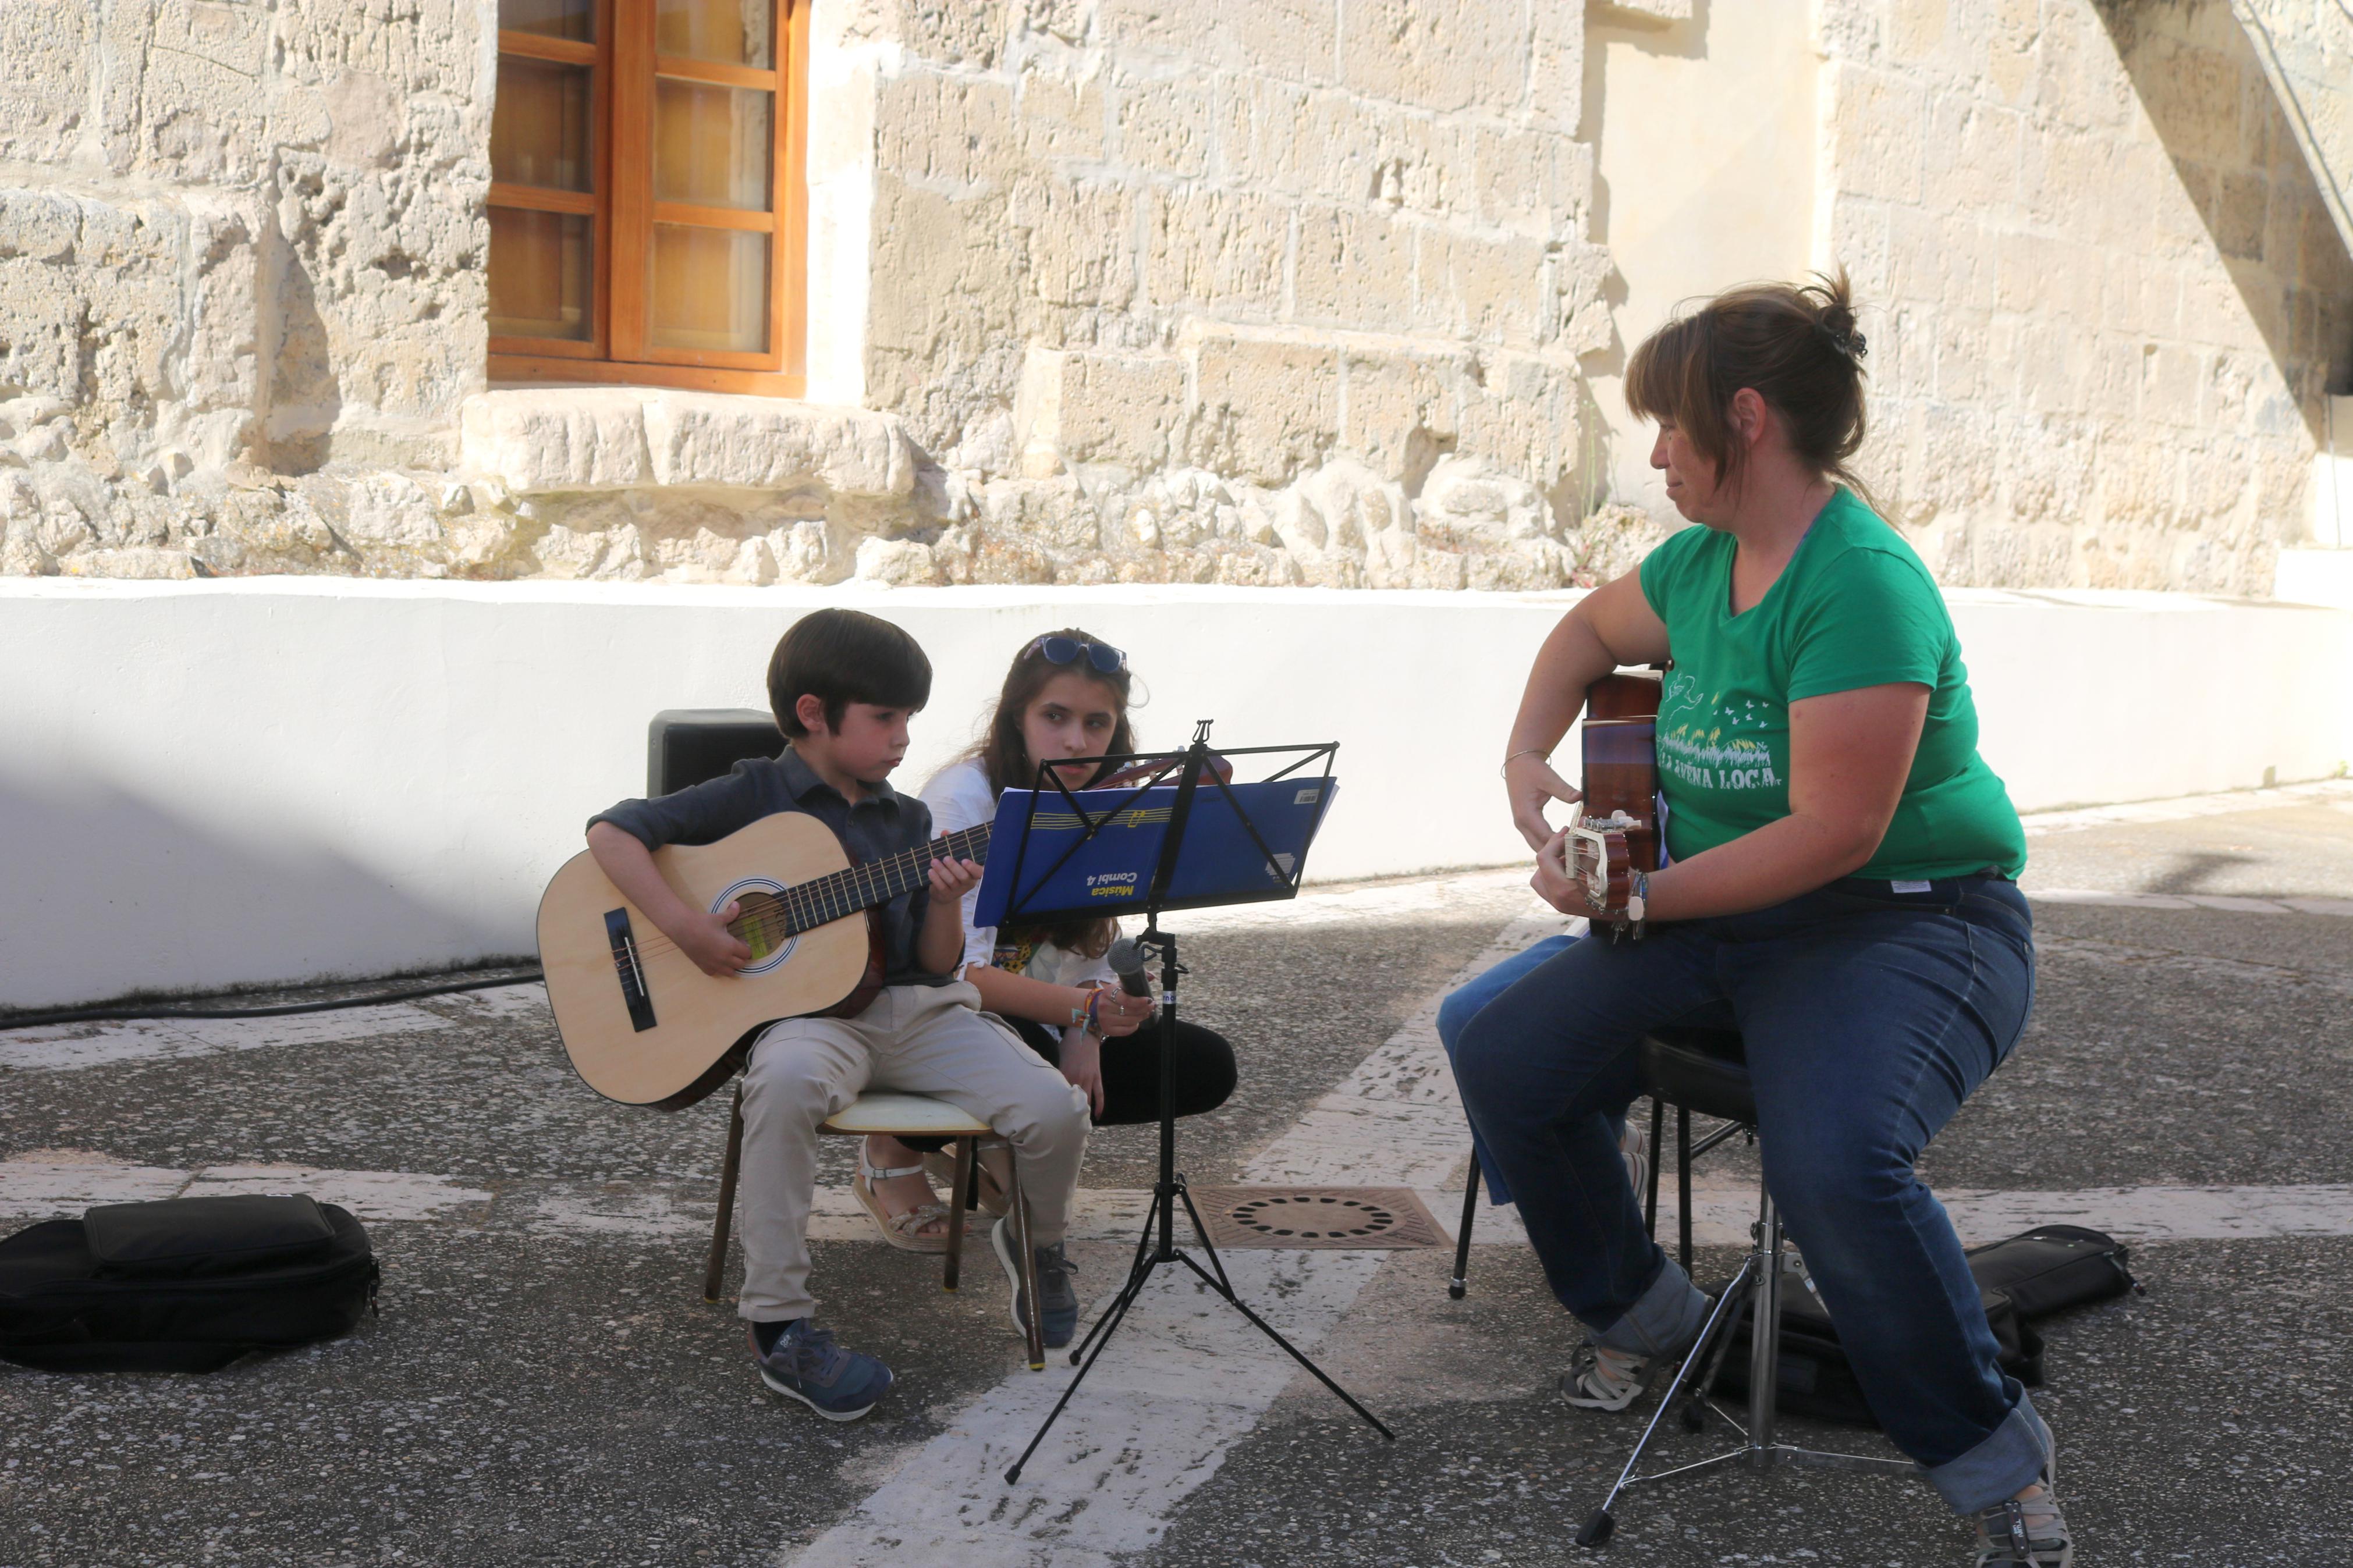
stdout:
<svg viewBox="0 0 2353 1568">
<path fill-rule="evenodd" d="M 572 1070 L 607 1100 L 680 1110 L 727 1081 L 739 1048 L 776 1018 L 856 1013 L 880 987 L 868 910 L 925 886 L 932 860 L 988 858 L 988 823 L 852 865 L 805 811 L 779 811 L 718 844 L 654 851 L 661 879 L 751 947 L 734 976 L 706 976 L 581 851 L 539 900 L 539 964 Z"/>
</svg>

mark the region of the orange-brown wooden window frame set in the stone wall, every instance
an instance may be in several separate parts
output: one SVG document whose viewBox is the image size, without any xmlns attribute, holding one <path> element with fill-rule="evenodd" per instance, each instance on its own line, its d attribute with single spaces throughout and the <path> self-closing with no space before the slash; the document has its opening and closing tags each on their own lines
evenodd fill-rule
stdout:
<svg viewBox="0 0 2353 1568">
<path fill-rule="evenodd" d="M 489 336 L 494 383 L 593 381 L 675 386 L 704 393 L 802 397 L 807 390 L 809 299 L 809 5 L 772 0 L 774 71 L 678 59 L 654 52 L 654 0 L 595 0 L 595 42 L 499 33 L 499 54 L 588 66 L 593 190 L 544 190 L 492 181 L 492 207 L 593 219 L 595 331 L 584 341 Z M 687 207 L 654 200 L 654 80 L 678 78 L 774 94 L 769 212 Z M 621 134 L 635 127 L 635 134 Z M 654 223 L 767 233 L 767 350 L 656 348 L 647 282 Z"/>
</svg>

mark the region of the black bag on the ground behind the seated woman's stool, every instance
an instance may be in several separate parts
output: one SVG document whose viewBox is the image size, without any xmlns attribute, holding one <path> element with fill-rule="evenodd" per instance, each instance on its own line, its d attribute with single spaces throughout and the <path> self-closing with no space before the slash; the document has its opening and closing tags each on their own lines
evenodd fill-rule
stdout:
<svg viewBox="0 0 2353 1568">
<path fill-rule="evenodd" d="M 2042 1387 L 2042 1335 L 2033 1321 L 2064 1307 L 2101 1302 L 2137 1281 L 2129 1251 L 2113 1237 L 2080 1225 L 2038 1225 L 2007 1241 L 1969 1248 L 1969 1274 L 2000 1345 L 2000 1366 L 2026 1387 Z M 1748 1399 L 1748 1309 L 1732 1326 L 1713 1392 Z M 1831 1314 L 1793 1274 L 1781 1286 L 1779 1408 L 1788 1415 L 1878 1427 Z"/>
</svg>

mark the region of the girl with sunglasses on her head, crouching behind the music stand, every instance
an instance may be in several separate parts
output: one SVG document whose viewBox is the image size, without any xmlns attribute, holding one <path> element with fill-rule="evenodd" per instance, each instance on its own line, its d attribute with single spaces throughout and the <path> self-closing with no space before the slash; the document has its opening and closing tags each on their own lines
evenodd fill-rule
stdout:
<svg viewBox="0 0 2353 1568">
<path fill-rule="evenodd" d="M 1127 654 L 1080 630 L 1047 632 L 1014 656 L 981 741 L 922 788 L 936 832 L 960 832 L 998 813 L 998 795 L 1026 790 L 1052 764 L 1073 790 L 1106 773 L 1104 757 L 1136 750 L 1127 726 Z M 1054 926 L 974 926 L 979 891 L 965 898 L 965 973 L 981 1009 L 1005 1018 L 1021 1041 L 1056 1065 L 1094 1112 L 1096 1126 L 1160 1119 L 1162 1025 L 1148 997 L 1129 997 L 1111 971 L 1115 919 Z M 1233 1093 L 1233 1046 L 1176 1023 L 1176 1114 L 1217 1110 Z M 913 1251 L 946 1251 L 946 1206 L 925 1180 L 944 1180 L 944 1157 L 896 1138 L 868 1138 L 856 1185 L 885 1239 Z M 984 1164 L 984 1204 L 995 1206 Z"/>
</svg>

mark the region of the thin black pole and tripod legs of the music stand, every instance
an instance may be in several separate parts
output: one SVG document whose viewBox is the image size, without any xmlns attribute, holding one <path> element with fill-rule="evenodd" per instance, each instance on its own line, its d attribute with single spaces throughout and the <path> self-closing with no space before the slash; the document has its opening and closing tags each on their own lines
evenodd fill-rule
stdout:
<svg viewBox="0 0 2353 1568">
<path fill-rule="evenodd" d="M 1066 1387 L 1061 1399 L 1054 1401 L 1054 1408 L 1047 1410 L 1045 1422 L 1040 1422 L 1038 1432 L 1028 1441 L 1028 1448 L 1021 1450 L 1021 1458 L 1005 1472 L 1007 1486 L 1021 1479 L 1021 1467 L 1028 1465 L 1031 1455 L 1038 1453 L 1038 1443 L 1042 1443 L 1045 1434 L 1054 1429 L 1056 1420 L 1061 1420 L 1071 1396 L 1078 1394 L 1078 1385 L 1087 1380 L 1094 1363 L 1104 1359 L 1106 1349 L 1111 1349 L 1111 1335 L 1118 1333 L 1120 1324 L 1127 1319 L 1127 1309 L 1144 1293 L 1144 1284 L 1153 1276 L 1153 1269 L 1179 1262 L 1193 1269 L 1207 1288 L 1224 1295 L 1226 1305 L 1249 1319 L 1252 1328 L 1280 1345 L 1292 1361 L 1315 1373 L 1315 1380 L 1332 1389 L 1351 1410 L 1372 1422 L 1374 1432 L 1388 1441 L 1398 1441 L 1398 1434 L 1391 1432 L 1379 1415 L 1358 1403 L 1355 1394 L 1332 1382 L 1332 1378 L 1315 1366 L 1306 1352 L 1285 1340 L 1273 1324 L 1261 1319 L 1240 1295 L 1235 1295 L 1233 1281 L 1226 1279 L 1226 1265 L 1219 1260 L 1217 1246 L 1209 1241 L 1209 1227 L 1202 1225 L 1200 1211 L 1193 1206 L 1193 1194 L 1186 1190 L 1184 1175 L 1176 1173 L 1176 978 L 1186 973 L 1186 969 L 1176 961 L 1176 938 L 1160 929 L 1160 905 L 1176 867 L 1176 851 L 1184 844 L 1186 820 L 1193 813 L 1193 792 L 1207 769 L 1209 722 L 1202 719 L 1193 731 L 1193 745 L 1186 748 L 1184 776 L 1176 785 L 1176 802 L 1169 809 L 1167 844 L 1160 856 L 1160 867 L 1153 875 L 1151 900 L 1144 907 L 1144 936 L 1136 938 L 1139 947 L 1160 952 L 1160 1180 L 1153 1185 L 1153 1206 L 1151 1213 L 1144 1215 L 1144 1232 L 1136 1237 L 1136 1258 L 1127 1269 L 1127 1284 L 1120 1286 L 1120 1293 L 1111 1298 L 1111 1305 L 1104 1307 L 1101 1316 L 1094 1319 L 1094 1326 L 1087 1328 L 1087 1338 L 1071 1349 L 1071 1366 L 1078 1368 L 1078 1375 L 1071 1378 L 1071 1387 Z M 1193 1222 L 1193 1234 L 1200 1239 L 1200 1251 L 1209 1255 L 1209 1267 L 1217 1269 L 1214 1274 L 1176 1246 L 1176 1204 L 1184 1204 L 1186 1218 Z"/>
</svg>

